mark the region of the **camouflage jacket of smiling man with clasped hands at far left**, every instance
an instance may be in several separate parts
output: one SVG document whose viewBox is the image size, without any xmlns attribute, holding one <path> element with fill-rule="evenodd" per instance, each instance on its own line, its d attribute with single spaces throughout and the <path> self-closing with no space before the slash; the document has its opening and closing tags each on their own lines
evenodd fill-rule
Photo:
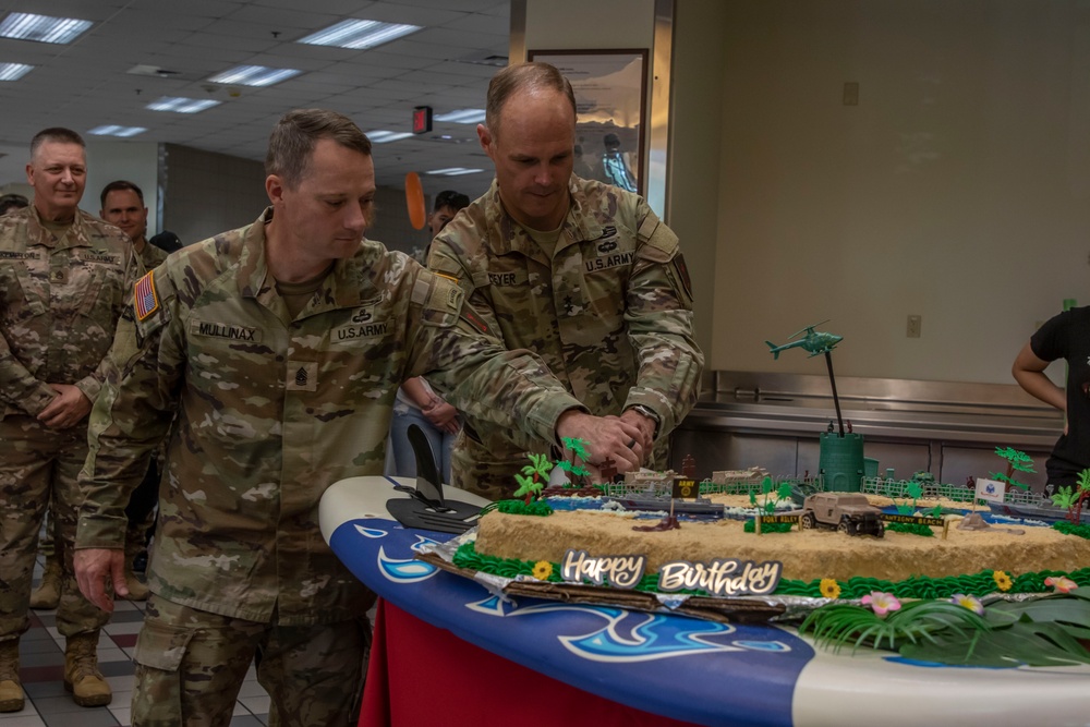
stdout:
<svg viewBox="0 0 1090 727">
<path fill-rule="evenodd" d="M 76 210 L 62 240 L 34 205 L 0 217 L 0 419 L 36 416 L 73 384 L 92 401 L 129 292 L 132 246 Z"/>
</svg>

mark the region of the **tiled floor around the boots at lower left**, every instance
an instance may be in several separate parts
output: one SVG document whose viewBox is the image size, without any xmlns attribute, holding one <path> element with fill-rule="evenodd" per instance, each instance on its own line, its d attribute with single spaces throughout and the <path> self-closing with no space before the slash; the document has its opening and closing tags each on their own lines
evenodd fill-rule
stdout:
<svg viewBox="0 0 1090 727">
<path fill-rule="evenodd" d="M 41 564 L 35 569 L 35 586 Z M 21 712 L 0 714 L 0 727 L 113 727 L 129 725 L 133 689 L 132 652 L 144 620 L 144 604 L 119 601 L 98 640 L 98 666 L 113 689 L 108 706 L 83 707 L 64 691 L 64 638 L 56 611 L 31 611 L 31 629 L 19 643 L 20 677 L 26 692 Z M 259 727 L 268 720 L 269 696 L 251 667 L 239 692 L 231 727 Z"/>
</svg>

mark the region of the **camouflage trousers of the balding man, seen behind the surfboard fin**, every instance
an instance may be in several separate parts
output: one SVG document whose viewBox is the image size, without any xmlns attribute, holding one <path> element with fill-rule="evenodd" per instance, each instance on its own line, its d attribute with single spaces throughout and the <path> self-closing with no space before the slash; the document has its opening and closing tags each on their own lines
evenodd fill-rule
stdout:
<svg viewBox="0 0 1090 727">
<path fill-rule="evenodd" d="M 593 455 L 592 451 L 591 456 Z M 666 468 L 667 462 L 669 439 L 662 437 L 655 443 L 650 461 L 643 465 L 657 472 Z M 465 427 L 462 427 L 450 453 L 450 484 L 489 500 L 510 499 L 519 488 L 514 475 L 522 472 L 522 468 L 529 463 L 526 452 L 514 444 L 493 439 L 483 445 L 469 436 Z"/>
</svg>

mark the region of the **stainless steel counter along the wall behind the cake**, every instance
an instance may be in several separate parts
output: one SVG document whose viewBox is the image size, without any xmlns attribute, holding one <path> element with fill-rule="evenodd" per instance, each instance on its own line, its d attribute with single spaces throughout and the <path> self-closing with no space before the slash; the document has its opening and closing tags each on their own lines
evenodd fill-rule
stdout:
<svg viewBox="0 0 1090 727">
<path fill-rule="evenodd" d="M 775 474 L 816 472 L 818 435 L 836 427 L 828 377 L 715 372 L 707 383 L 674 434 L 675 469 L 692 455 L 699 476 L 758 464 Z M 1058 411 L 1014 384 L 859 377 L 836 384 L 845 426 L 864 436 L 867 457 L 898 476 L 928 470 L 960 484 L 1004 465 L 995 447 L 1014 447 L 1034 458 L 1038 473 L 1022 481 L 1040 487 L 1063 431 Z"/>
</svg>

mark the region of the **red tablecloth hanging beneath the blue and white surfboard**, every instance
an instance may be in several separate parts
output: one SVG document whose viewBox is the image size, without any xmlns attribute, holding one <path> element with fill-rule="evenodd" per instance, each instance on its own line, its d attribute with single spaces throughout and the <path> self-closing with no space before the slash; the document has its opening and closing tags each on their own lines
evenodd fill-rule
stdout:
<svg viewBox="0 0 1090 727">
<path fill-rule="evenodd" d="M 691 727 L 570 687 L 379 599 L 360 727 L 432 725 Z"/>
</svg>

